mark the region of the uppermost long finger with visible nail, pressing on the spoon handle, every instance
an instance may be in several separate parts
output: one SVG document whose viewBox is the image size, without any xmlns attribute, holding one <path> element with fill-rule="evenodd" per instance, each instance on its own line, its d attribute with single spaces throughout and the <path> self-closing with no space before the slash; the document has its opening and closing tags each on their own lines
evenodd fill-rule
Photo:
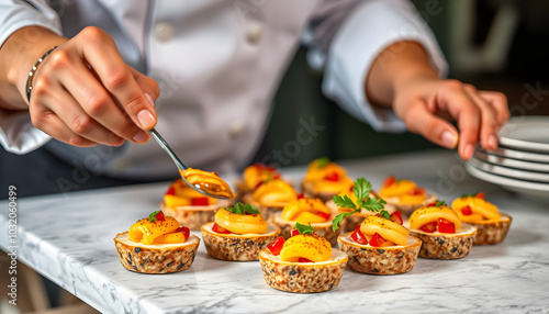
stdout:
<svg viewBox="0 0 549 314">
<path fill-rule="evenodd" d="M 82 30 L 75 40 L 80 54 L 132 121 L 141 128 L 152 128 L 157 121 L 154 106 L 117 51 L 113 53 L 114 41 L 105 32 L 91 26 Z"/>
</svg>

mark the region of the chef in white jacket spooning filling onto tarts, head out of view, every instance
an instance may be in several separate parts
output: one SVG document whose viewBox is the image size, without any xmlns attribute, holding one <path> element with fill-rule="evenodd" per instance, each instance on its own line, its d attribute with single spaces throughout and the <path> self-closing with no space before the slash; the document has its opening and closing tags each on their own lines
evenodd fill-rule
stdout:
<svg viewBox="0 0 549 314">
<path fill-rule="evenodd" d="M 440 78 L 436 40 L 403 0 L 0 0 L 0 44 L 4 149 L 80 164 L 102 152 L 117 178 L 176 173 L 152 127 L 195 168 L 250 162 L 300 44 L 323 92 L 378 131 L 469 159 L 496 148 L 509 115 L 502 93 Z"/>
</svg>

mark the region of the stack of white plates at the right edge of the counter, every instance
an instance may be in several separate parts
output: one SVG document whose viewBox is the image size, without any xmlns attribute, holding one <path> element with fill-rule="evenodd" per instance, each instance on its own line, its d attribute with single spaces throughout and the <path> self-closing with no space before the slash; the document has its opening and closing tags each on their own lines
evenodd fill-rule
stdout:
<svg viewBox="0 0 549 314">
<path fill-rule="evenodd" d="M 494 152 L 477 147 L 471 176 L 533 200 L 549 202 L 549 116 L 511 119 Z"/>
</svg>

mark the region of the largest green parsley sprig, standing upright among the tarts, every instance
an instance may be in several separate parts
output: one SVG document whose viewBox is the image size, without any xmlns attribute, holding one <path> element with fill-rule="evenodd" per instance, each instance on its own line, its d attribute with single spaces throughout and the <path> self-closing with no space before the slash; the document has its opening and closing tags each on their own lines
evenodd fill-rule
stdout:
<svg viewBox="0 0 549 314">
<path fill-rule="evenodd" d="M 365 178 L 358 178 L 355 181 L 355 187 L 352 187 L 352 192 L 357 195 L 357 204 L 349 199 L 349 197 L 344 195 L 335 195 L 333 201 L 339 208 L 344 209 L 352 209 L 354 211 L 350 213 L 340 213 L 332 221 L 332 229 L 335 232 L 339 228 L 343 223 L 343 220 L 355 214 L 359 213 L 361 209 L 368 210 L 370 212 L 380 213 L 384 218 L 390 218 L 391 215 L 388 211 L 384 210 L 385 201 L 378 198 L 370 198 L 370 192 L 372 190 L 372 184 L 366 180 Z"/>
</svg>

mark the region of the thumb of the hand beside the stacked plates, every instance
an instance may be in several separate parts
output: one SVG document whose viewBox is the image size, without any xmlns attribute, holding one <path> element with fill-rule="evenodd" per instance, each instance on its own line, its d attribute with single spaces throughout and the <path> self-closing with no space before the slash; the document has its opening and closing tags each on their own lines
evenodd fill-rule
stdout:
<svg viewBox="0 0 549 314">
<path fill-rule="evenodd" d="M 423 101 L 411 105 L 404 121 L 410 132 L 421 134 L 439 146 L 453 149 L 458 145 L 456 127 L 429 112 Z"/>
</svg>

